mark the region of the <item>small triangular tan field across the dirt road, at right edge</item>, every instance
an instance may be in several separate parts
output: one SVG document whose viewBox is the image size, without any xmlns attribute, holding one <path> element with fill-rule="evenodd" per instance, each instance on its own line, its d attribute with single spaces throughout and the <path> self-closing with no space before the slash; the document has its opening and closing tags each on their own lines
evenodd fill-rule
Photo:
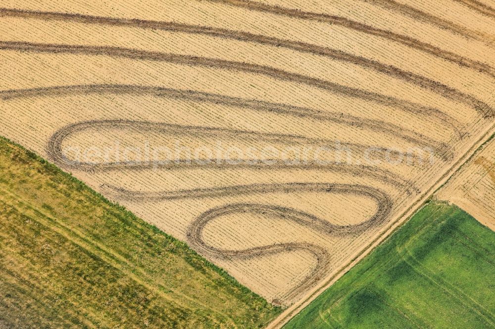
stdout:
<svg viewBox="0 0 495 329">
<path fill-rule="evenodd" d="M 486 143 L 436 196 L 466 209 L 495 231 L 495 140 Z"/>
</svg>

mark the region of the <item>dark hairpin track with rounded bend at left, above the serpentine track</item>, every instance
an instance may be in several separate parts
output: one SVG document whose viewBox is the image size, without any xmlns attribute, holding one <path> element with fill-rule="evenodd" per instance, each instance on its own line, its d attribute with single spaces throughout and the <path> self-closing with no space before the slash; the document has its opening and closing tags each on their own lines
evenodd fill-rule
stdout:
<svg viewBox="0 0 495 329">
<path fill-rule="evenodd" d="M 219 167 L 219 168 L 265 168 L 265 169 L 287 169 L 287 168 L 298 168 L 305 170 L 323 170 L 323 171 L 334 171 L 334 172 L 344 172 L 351 173 L 355 176 L 368 176 L 389 184 L 392 184 L 398 188 L 406 189 L 410 193 L 416 193 L 416 189 L 413 188 L 412 183 L 404 181 L 402 178 L 396 174 L 377 167 L 366 166 L 366 165 L 352 165 L 346 163 L 337 162 L 324 162 L 324 161 L 307 161 L 304 163 L 288 163 L 281 161 L 265 161 L 259 162 L 256 159 L 245 159 L 243 163 L 225 163 L 225 161 L 220 161 L 219 159 L 208 159 L 209 161 L 201 161 L 201 163 L 195 163 L 190 160 L 174 160 L 174 161 L 160 161 L 160 160 L 150 160 L 150 161 L 127 161 L 127 162 L 108 162 L 101 164 L 86 163 L 80 161 L 72 161 L 68 159 L 62 150 L 63 141 L 70 137 L 75 132 L 80 132 L 90 128 L 120 128 L 120 129 L 138 129 L 140 131 L 155 131 L 162 132 L 166 134 L 172 134 L 174 136 L 187 134 L 192 136 L 205 136 L 213 135 L 219 137 L 236 137 L 242 136 L 244 139 L 253 139 L 257 141 L 272 141 L 280 143 L 289 144 L 311 144 L 311 145 L 323 145 L 329 146 L 329 148 L 335 147 L 331 145 L 332 141 L 325 139 L 315 139 L 308 137 L 301 137 L 298 135 L 289 134 L 274 134 L 274 133 L 260 133 L 254 131 L 246 130 L 234 130 L 225 128 L 211 128 L 202 126 L 184 126 L 169 123 L 155 123 L 146 121 L 130 121 L 130 120 L 96 120 L 96 121 L 85 121 L 81 123 L 70 124 L 56 131 L 49 139 L 47 144 L 47 155 L 50 161 L 64 168 L 74 168 L 78 170 L 85 171 L 96 171 L 96 170 L 114 170 L 121 169 L 123 167 L 132 167 L 134 169 L 145 169 L 145 168 L 165 168 L 173 169 L 183 168 L 185 166 L 193 167 Z M 341 147 L 347 147 L 356 151 L 365 151 L 368 146 L 361 144 L 352 143 L 341 143 Z M 387 152 L 385 149 L 375 148 L 377 151 Z"/>
</svg>

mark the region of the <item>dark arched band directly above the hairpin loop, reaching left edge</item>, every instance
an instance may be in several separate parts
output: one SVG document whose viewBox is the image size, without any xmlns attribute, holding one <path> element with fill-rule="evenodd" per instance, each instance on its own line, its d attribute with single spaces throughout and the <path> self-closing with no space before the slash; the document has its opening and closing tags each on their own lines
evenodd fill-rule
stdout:
<svg viewBox="0 0 495 329">
<path fill-rule="evenodd" d="M 419 147 L 431 148 L 435 151 L 436 154 L 442 155 L 442 157 L 446 161 L 451 160 L 453 157 L 453 154 L 448 151 L 449 147 L 446 143 L 435 141 L 421 133 L 397 126 L 393 123 L 359 118 L 344 113 L 326 112 L 305 107 L 280 103 L 270 103 L 259 100 L 249 100 L 194 90 L 181 90 L 137 84 L 85 84 L 3 90 L 0 91 L 0 99 L 7 101 L 15 98 L 64 96 L 89 93 L 115 93 L 119 95 L 125 93 L 149 94 L 156 97 L 168 97 L 181 100 L 185 99 L 195 102 L 208 102 L 233 106 L 237 108 L 248 108 L 256 111 L 275 112 L 299 118 L 311 118 L 320 122 L 346 124 L 348 126 L 369 129 L 375 132 L 387 133 L 393 137 L 402 138 L 405 141 L 414 143 Z M 451 121 L 442 123 L 451 126 L 454 133 L 460 138 L 460 136 L 462 136 L 462 133 L 456 127 L 456 125 L 460 125 L 460 123 L 457 121 L 455 121 L 455 123 L 452 123 Z"/>
</svg>

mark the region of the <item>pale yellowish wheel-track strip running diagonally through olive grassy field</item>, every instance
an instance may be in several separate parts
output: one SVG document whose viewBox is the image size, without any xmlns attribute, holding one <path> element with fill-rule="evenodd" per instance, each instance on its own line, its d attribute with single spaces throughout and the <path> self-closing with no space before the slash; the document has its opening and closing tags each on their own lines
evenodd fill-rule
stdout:
<svg viewBox="0 0 495 329">
<path fill-rule="evenodd" d="M 93 253 L 94 255 L 98 256 L 101 258 L 104 262 L 111 264 L 114 268 L 118 269 L 119 271 L 122 271 L 123 273 L 129 275 L 134 281 L 139 283 L 140 285 L 145 286 L 146 288 L 150 289 L 151 291 L 155 291 L 156 293 L 160 294 L 162 297 L 170 300 L 172 303 L 176 303 L 180 305 L 181 307 L 185 309 L 189 309 L 190 306 L 187 304 L 181 303 L 181 298 L 185 298 L 192 302 L 195 306 L 198 306 L 200 308 L 204 309 L 209 309 L 225 319 L 228 319 L 233 327 L 237 326 L 235 325 L 234 321 L 229 318 L 226 314 L 219 312 L 218 310 L 215 310 L 205 304 L 200 303 L 198 300 L 194 300 L 190 298 L 189 296 L 182 294 L 178 291 L 174 291 L 170 287 L 163 287 L 160 284 L 157 284 L 154 280 L 148 277 L 148 275 L 133 266 L 127 259 L 119 255 L 118 253 L 115 253 L 108 248 L 105 248 L 101 244 L 98 244 L 96 242 L 92 242 L 88 237 L 85 237 L 84 234 L 74 228 L 69 228 L 67 226 L 64 226 L 60 221 L 56 221 L 53 218 L 50 217 L 46 211 L 39 209 L 39 208 L 34 208 L 33 206 L 30 206 L 26 202 L 17 199 L 15 195 L 8 191 L 4 191 L 2 195 L 0 195 L 0 200 L 8 204 L 8 201 L 5 200 L 5 196 L 9 196 L 14 201 L 17 201 L 19 205 L 17 206 L 22 206 L 26 210 L 31 210 L 33 213 L 36 213 L 38 216 L 37 218 L 40 220 L 40 224 L 46 226 L 47 228 L 57 232 L 58 234 L 64 236 L 68 240 L 74 242 L 78 246 L 84 248 L 88 252 Z M 17 200 L 16 200 L 17 199 Z M 10 206 L 14 206 L 12 204 L 9 204 Z M 153 285 L 150 285 L 150 283 L 157 284 L 160 289 L 155 289 Z M 176 294 L 177 296 L 180 296 L 180 298 L 174 298 L 173 296 L 170 296 L 169 294 L 173 293 Z"/>
</svg>

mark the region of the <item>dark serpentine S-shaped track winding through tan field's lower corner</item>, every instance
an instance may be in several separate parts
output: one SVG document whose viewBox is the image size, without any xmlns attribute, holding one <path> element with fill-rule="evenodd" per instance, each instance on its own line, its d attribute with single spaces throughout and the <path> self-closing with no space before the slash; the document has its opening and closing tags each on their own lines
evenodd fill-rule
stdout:
<svg viewBox="0 0 495 329">
<path fill-rule="evenodd" d="M 111 186 L 104 186 L 104 188 L 112 189 L 114 192 L 123 195 L 125 198 L 131 198 L 132 192 L 118 189 Z M 216 189 L 196 189 L 196 190 L 180 190 L 173 192 L 137 192 L 135 195 L 139 195 L 140 198 L 161 198 L 172 199 L 188 199 L 188 198 L 202 198 L 202 197 L 221 197 L 221 196 L 233 196 L 233 195 L 246 195 L 246 194 L 265 194 L 273 192 L 284 193 L 297 193 L 297 192 L 317 192 L 317 193 L 330 193 L 351 195 L 357 197 L 365 197 L 373 200 L 377 209 L 375 213 L 366 221 L 353 225 L 336 225 L 329 221 L 314 216 L 310 213 L 296 210 L 294 208 L 265 205 L 265 204 L 227 204 L 212 208 L 202 214 L 200 214 L 196 220 L 187 229 L 186 237 L 189 244 L 195 248 L 199 253 L 211 257 L 222 259 L 248 259 L 253 257 L 261 257 L 266 255 L 272 255 L 277 253 L 283 253 L 293 250 L 305 250 L 311 253 L 316 259 L 316 265 L 310 271 L 310 273 L 300 280 L 297 286 L 291 288 L 286 292 L 283 299 L 292 300 L 296 296 L 300 295 L 308 288 L 314 286 L 325 273 L 329 270 L 330 255 L 325 248 L 316 246 L 311 243 L 276 243 L 269 246 L 251 247 L 241 250 L 228 250 L 208 245 L 203 240 L 203 230 L 205 226 L 214 221 L 217 217 L 223 215 L 231 215 L 235 213 L 242 214 L 258 214 L 267 217 L 277 218 L 284 221 L 294 222 L 304 229 L 312 230 L 321 234 L 329 236 L 352 236 L 363 233 L 372 227 L 376 227 L 387 220 L 393 208 L 393 202 L 390 197 L 375 188 L 371 188 L 363 185 L 351 185 L 351 184 L 333 184 L 333 183 L 286 183 L 286 184 L 253 184 L 246 186 L 232 186 Z"/>
</svg>

